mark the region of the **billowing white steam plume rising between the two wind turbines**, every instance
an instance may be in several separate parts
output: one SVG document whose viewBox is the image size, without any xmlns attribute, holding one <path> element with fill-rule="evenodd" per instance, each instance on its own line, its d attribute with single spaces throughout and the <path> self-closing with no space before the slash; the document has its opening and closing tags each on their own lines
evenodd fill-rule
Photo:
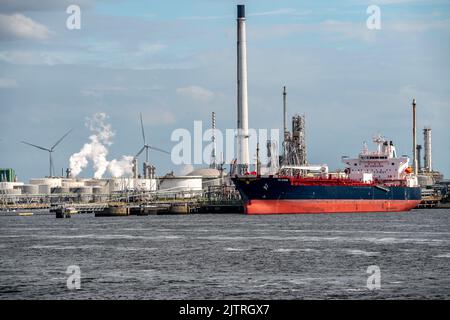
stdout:
<svg viewBox="0 0 450 320">
<path fill-rule="evenodd" d="M 70 157 L 70 170 L 72 177 L 78 176 L 84 168 L 92 161 L 94 167 L 94 178 L 100 179 L 109 170 L 113 177 L 121 177 L 132 172 L 131 156 L 123 156 L 121 160 L 106 159 L 108 146 L 112 144 L 114 132 L 111 125 L 106 122 L 105 113 L 96 113 L 91 118 L 86 119 L 86 127 L 91 130 L 90 142 L 84 144 L 81 150 Z"/>
</svg>

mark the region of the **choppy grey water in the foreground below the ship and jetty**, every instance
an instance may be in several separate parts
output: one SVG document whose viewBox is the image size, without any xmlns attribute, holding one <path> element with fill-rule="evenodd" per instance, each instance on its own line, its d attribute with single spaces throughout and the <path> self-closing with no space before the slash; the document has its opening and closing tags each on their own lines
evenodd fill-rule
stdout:
<svg viewBox="0 0 450 320">
<path fill-rule="evenodd" d="M 1 299 L 450 298 L 450 210 L 0 217 Z M 67 289 L 69 265 L 81 289 Z M 366 287 L 367 267 L 381 288 Z"/>
</svg>

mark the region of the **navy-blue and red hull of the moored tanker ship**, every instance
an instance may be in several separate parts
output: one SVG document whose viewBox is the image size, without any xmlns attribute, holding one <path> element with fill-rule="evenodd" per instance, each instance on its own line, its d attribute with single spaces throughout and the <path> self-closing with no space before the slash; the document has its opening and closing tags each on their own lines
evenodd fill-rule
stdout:
<svg viewBox="0 0 450 320">
<path fill-rule="evenodd" d="M 419 187 L 303 184 L 288 178 L 233 178 L 247 214 L 400 212 L 415 208 Z"/>
</svg>

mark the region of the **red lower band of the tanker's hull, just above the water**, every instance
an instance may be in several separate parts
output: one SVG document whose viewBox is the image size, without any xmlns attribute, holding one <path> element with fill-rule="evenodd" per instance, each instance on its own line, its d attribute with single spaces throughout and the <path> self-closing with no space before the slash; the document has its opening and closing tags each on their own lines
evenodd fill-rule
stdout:
<svg viewBox="0 0 450 320">
<path fill-rule="evenodd" d="M 420 200 L 250 200 L 247 214 L 339 212 L 399 212 L 415 208 Z"/>
</svg>

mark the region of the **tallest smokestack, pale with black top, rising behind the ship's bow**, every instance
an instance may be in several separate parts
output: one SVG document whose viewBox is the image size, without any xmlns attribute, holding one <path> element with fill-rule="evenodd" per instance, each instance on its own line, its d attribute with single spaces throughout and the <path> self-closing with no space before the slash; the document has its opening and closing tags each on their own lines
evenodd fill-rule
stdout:
<svg viewBox="0 0 450 320">
<path fill-rule="evenodd" d="M 247 97 L 247 39 L 245 6 L 237 6 L 237 164 L 239 173 L 249 165 L 248 151 L 248 97 Z"/>
</svg>

